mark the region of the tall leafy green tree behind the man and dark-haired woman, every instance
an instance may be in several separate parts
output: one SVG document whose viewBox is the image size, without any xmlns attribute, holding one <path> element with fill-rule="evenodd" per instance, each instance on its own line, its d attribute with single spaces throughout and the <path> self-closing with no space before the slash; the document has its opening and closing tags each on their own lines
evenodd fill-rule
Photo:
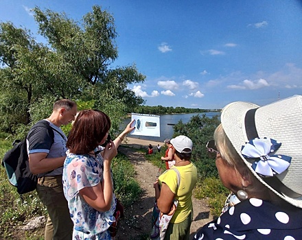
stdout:
<svg viewBox="0 0 302 240">
<path fill-rule="evenodd" d="M 118 57 L 113 16 L 97 5 L 80 22 L 64 12 L 33 11 L 46 44 L 27 29 L 0 23 L 1 129 L 18 132 L 18 123 L 47 117 L 56 99 L 69 98 L 93 102 L 116 130 L 126 112 L 143 104 L 127 86 L 145 76 L 135 64 L 112 67 Z"/>
</svg>

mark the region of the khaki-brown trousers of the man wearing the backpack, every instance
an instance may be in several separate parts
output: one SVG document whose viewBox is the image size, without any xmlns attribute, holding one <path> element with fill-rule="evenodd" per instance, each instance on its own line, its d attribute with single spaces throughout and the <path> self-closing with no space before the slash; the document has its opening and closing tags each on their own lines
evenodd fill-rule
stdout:
<svg viewBox="0 0 302 240">
<path fill-rule="evenodd" d="M 63 193 L 62 175 L 39 178 L 36 191 L 49 215 L 45 226 L 45 240 L 71 240 L 73 222 Z"/>
</svg>

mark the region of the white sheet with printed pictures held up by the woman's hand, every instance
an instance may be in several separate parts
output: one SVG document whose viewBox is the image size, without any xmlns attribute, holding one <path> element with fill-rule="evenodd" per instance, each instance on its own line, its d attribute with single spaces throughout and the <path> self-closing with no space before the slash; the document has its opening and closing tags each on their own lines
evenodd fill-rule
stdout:
<svg viewBox="0 0 302 240">
<path fill-rule="evenodd" d="M 130 134 L 140 136 L 161 136 L 161 128 L 159 125 L 158 115 L 145 115 L 132 113 L 131 120 L 135 119 L 132 126 L 135 125 L 135 130 Z"/>
</svg>

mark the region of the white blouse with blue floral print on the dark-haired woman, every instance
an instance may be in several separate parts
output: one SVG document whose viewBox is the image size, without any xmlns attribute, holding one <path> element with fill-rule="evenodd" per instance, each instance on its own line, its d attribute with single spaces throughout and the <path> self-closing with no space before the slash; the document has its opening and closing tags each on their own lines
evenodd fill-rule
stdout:
<svg viewBox="0 0 302 240">
<path fill-rule="evenodd" d="M 62 182 L 73 221 L 73 239 L 111 239 L 108 228 L 115 221 L 113 217 L 116 207 L 115 195 L 113 194 L 111 209 L 100 212 L 89 206 L 79 194 L 84 187 L 93 187 L 102 182 L 103 166 L 101 154 L 94 158 L 88 154 L 67 153 Z"/>
</svg>

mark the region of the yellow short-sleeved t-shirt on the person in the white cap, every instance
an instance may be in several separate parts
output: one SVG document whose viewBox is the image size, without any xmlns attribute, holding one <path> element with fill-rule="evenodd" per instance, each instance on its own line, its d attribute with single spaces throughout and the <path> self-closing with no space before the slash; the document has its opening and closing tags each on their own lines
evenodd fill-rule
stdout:
<svg viewBox="0 0 302 240">
<path fill-rule="evenodd" d="M 178 200 L 178 206 L 174 213 L 171 222 L 179 224 L 189 216 L 193 211 L 192 204 L 192 190 L 197 182 L 197 169 L 193 163 L 186 166 L 176 167 L 179 173 L 181 173 L 181 184 L 176 191 L 177 186 L 177 173 L 174 170 L 167 170 L 161 176 L 159 176 L 159 185 L 165 182 L 170 188 L 172 193 L 175 194 L 175 199 Z M 173 167 L 172 167 L 173 168 Z"/>
</svg>

